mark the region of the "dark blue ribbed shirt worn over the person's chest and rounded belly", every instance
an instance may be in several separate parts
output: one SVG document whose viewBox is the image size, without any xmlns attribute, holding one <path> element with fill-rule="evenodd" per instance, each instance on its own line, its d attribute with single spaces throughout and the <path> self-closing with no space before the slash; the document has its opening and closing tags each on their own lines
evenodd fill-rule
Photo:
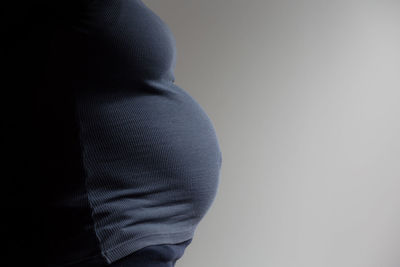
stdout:
<svg viewBox="0 0 400 267">
<path fill-rule="evenodd" d="M 34 92 L 23 116 L 47 266 L 193 238 L 222 154 L 210 118 L 174 83 L 168 26 L 140 0 L 38 1 L 26 14 L 16 58 L 30 68 L 13 75 L 34 78 L 15 90 Z"/>
</svg>

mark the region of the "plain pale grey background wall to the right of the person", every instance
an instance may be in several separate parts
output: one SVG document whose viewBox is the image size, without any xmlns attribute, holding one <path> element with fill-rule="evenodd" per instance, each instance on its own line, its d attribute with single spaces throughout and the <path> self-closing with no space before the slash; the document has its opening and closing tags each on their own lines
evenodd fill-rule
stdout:
<svg viewBox="0 0 400 267">
<path fill-rule="evenodd" d="M 223 153 L 176 266 L 400 266 L 400 1 L 143 2 Z"/>
</svg>

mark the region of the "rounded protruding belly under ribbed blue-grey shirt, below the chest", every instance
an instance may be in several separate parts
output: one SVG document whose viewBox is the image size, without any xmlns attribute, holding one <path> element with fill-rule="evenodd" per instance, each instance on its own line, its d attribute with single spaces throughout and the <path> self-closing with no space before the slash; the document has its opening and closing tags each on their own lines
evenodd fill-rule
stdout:
<svg viewBox="0 0 400 267">
<path fill-rule="evenodd" d="M 82 94 L 77 103 L 94 205 L 124 200 L 131 209 L 159 209 L 157 217 L 205 215 L 217 192 L 221 151 L 210 118 L 188 93 L 147 81 L 135 91 Z M 135 223 L 148 214 L 136 212 Z"/>
</svg>

